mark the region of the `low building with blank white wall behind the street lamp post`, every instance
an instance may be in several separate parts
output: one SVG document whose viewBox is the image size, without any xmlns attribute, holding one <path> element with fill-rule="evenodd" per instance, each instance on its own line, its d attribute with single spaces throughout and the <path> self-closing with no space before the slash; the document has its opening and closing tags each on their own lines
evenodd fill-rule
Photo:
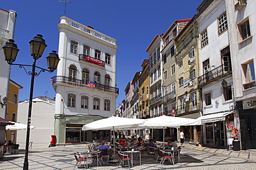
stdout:
<svg viewBox="0 0 256 170">
<path fill-rule="evenodd" d="M 29 100 L 19 103 L 17 122 L 28 123 Z M 31 122 L 35 129 L 30 129 L 30 145 L 32 148 L 46 148 L 51 143 L 51 135 L 54 134 L 55 100 L 39 96 L 33 98 Z M 20 149 L 26 147 L 26 129 L 17 131 L 17 143 Z"/>
</svg>

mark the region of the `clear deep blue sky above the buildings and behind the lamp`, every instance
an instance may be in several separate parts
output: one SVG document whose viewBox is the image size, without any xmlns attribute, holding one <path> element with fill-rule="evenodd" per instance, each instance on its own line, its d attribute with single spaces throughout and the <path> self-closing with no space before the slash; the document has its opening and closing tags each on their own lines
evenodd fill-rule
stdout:
<svg viewBox="0 0 256 170">
<path fill-rule="evenodd" d="M 29 41 L 36 34 L 46 40 L 46 50 L 37 66 L 47 68 L 45 57 L 52 50 L 58 50 L 59 32 L 57 24 L 64 16 L 65 3 L 59 0 L 8 0 L 2 1 L 0 8 L 15 10 L 17 21 L 15 43 L 19 54 L 15 63 L 32 65 Z M 174 20 L 192 18 L 203 0 L 71 0 L 66 3 L 66 17 L 79 23 L 92 26 L 95 30 L 117 39 L 116 83 L 119 96 L 116 105 L 125 99 L 124 89 L 134 74 L 142 70 L 141 64 L 149 55 L 145 50 L 156 34 L 164 33 Z M 30 67 L 27 68 L 28 71 Z M 41 73 L 35 78 L 33 97 L 55 97 L 49 74 Z M 23 69 L 12 65 L 10 78 L 24 88 L 19 100 L 28 100 L 30 76 Z M 47 93 L 45 93 L 47 92 Z"/>
</svg>

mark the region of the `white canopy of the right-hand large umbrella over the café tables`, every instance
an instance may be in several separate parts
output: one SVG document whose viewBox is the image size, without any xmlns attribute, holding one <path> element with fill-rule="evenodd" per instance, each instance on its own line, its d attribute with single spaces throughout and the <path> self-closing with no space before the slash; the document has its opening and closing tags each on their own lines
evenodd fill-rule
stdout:
<svg viewBox="0 0 256 170">
<path fill-rule="evenodd" d="M 163 129 L 166 127 L 174 127 L 179 128 L 183 125 L 187 125 L 189 123 L 194 122 L 195 119 L 192 118 L 181 118 L 181 117 L 173 117 L 173 116 L 158 116 L 156 118 L 149 118 L 145 123 L 139 125 L 141 128 L 149 128 L 149 129 Z"/>
</svg>

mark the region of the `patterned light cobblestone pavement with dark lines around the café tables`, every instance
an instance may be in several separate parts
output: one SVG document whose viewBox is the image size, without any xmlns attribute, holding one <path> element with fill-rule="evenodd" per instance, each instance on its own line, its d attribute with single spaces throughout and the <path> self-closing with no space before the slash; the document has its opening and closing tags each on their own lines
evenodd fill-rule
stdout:
<svg viewBox="0 0 256 170">
<path fill-rule="evenodd" d="M 84 151 L 86 145 L 66 145 L 48 147 L 45 149 L 30 149 L 29 169 L 78 169 L 75 167 L 73 152 Z M 185 144 L 181 150 L 182 162 L 175 161 L 172 165 L 169 161 L 165 164 L 156 163 L 156 155 L 142 156 L 142 165 L 139 159 L 134 159 L 134 167 L 131 169 L 256 169 L 256 150 L 228 151 L 226 149 L 214 149 L 209 147 L 197 147 Z M 118 167 L 114 163 L 108 163 L 97 167 L 93 164 L 89 169 L 129 169 L 127 162 L 125 167 Z M 4 156 L 0 161 L 0 169 L 22 169 L 24 163 L 24 151 L 19 154 Z"/>
</svg>

